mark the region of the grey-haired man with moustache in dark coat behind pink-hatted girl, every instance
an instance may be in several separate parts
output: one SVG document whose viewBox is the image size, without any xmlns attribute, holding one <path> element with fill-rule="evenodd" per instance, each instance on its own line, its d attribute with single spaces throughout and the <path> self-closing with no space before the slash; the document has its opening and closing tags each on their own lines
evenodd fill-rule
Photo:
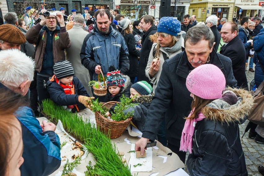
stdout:
<svg viewBox="0 0 264 176">
<path fill-rule="evenodd" d="M 185 162 L 186 152 L 179 151 L 179 148 L 185 123 L 184 117 L 187 117 L 191 110 L 192 98 L 186 87 L 189 72 L 202 64 L 213 64 L 222 70 L 227 85 L 237 84 L 233 76 L 231 60 L 213 50 L 213 41 L 213 32 L 209 27 L 196 25 L 185 35 L 185 51 L 165 60 L 143 126 L 142 138 L 135 143 L 135 151 L 141 151 L 143 155 L 147 142 L 156 139 L 161 122 L 165 118 L 167 147 Z"/>
</svg>

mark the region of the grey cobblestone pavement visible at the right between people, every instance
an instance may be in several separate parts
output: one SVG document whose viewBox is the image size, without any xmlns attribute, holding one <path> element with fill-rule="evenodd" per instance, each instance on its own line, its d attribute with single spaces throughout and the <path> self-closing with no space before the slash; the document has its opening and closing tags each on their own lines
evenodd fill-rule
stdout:
<svg viewBox="0 0 264 176">
<path fill-rule="evenodd" d="M 253 66 L 253 69 L 255 70 L 255 64 Z M 249 64 L 246 71 L 247 81 L 249 85 L 249 83 L 254 79 L 254 73 L 248 70 Z M 244 124 L 239 125 L 240 138 L 242 137 L 248 123 L 249 121 L 247 120 Z M 262 176 L 258 172 L 257 168 L 259 165 L 264 165 L 264 144 L 256 143 L 255 139 L 250 139 L 248 132 L 244 135 L 243 139 L 241 139 L 241 144 L 244 151 L 246 166 L 249 175 Z M 187 158 L 188 155 L 186 156 L 186 160 Z M 184 170 L 187 172 L 186 167 L 184 168 Z"/>
</svg>

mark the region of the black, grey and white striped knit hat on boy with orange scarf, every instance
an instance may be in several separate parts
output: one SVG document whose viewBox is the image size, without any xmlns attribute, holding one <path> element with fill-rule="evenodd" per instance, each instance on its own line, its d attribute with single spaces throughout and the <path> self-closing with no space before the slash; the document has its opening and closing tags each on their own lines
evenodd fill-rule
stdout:
<svg viewBox="0 0 264 176">
<path fill-rule="evenodd" d="M 53 66 L 54 74 L 57 79 L 74 75 L 72 64 L 67 60 L 60 60 Z"/>
</svg>

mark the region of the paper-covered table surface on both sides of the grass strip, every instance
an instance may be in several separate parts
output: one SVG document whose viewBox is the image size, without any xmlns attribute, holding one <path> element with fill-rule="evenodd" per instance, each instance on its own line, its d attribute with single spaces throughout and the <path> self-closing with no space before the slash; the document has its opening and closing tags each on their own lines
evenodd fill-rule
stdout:
<svg viewBox="0 0 264 176">
<path fill-rule="evenodd" d="M 83 118 L 89 118 L 91 122 L 96 123 L 95 115 L 89 109 L 82 110 L 78 114 L 82 115 Z M 39 117 L 37 119 L 40 123 L 42 123 L 42 120 L 48 120 L 46 117 Z M 131 126 L 128 127 L 128 131 L 119 138 L 111 139 L 111 141 L 116 145 L 119 154 L 123 156 L 123 161 L 127 162 L 130 166 L 132 175 L 188 175 L 183 169 L 181 169 L 184 167 L 184 164 L 180 161 L 178 155 L 173 153 L 169 148 L 164 147 L 158 141 L 155 147 L 147 148 L 146 157 L 136 158 L 134 146 L 139 140 L 141 132 L 137 129 L 131 128 Z M 91 161 L 92 165 L 95 164 L 93 154 L 78 147 L 76 139 L 65 132 L 60 122 L 57 124 L 55 133 L 58 134 L 60 138 L 62 162 L 59 169 L 51 174 L 51 176 L 61 176 L 67 159 L 69 162 L 73 162 L 74 157 L 76 156 L 81 156 L 81 164 L 73 169 L 73 173 L 77 176 L 85 176 L 84 172 L 87 170 L 86 165 L 88 165 L 89 161 Z"/>
</svg>

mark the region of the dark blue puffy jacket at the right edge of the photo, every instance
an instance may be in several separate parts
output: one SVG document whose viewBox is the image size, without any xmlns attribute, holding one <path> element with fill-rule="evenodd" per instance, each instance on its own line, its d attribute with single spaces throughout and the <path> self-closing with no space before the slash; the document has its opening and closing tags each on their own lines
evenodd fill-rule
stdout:
<svg viewBox="0 0 264 176">
<path fill-rule="evenodd" d="M 260 33 L 253 38 L 253 47 L 255 50 L 253 62 L 256 64 L 254 79 L 256 87 L 258 87 L 264 80 L 264 71 L 260 65 L 261 63 L 264 68 L 264 29 L 261 29 Z"/>
</svg>

